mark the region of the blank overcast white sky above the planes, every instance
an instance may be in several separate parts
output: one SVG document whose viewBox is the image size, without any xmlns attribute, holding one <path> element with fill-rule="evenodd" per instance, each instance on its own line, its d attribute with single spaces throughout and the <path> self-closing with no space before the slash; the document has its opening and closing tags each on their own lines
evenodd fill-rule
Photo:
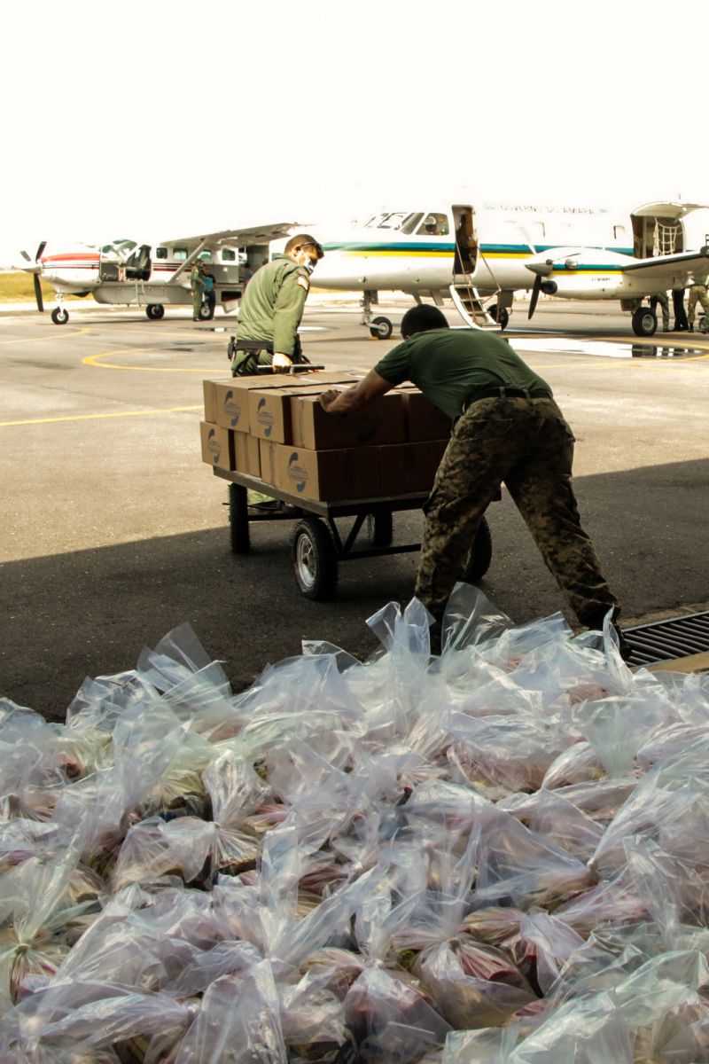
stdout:
<svg viewBox="0 0 709 1064">
<path fill-rule="evenodd" d="M 7 10 L 10 7 L 10 11 Z M 707 202 L 704 0 L 3 5 L 0 262 L 482 200 Z M 16 256 L 14 256 L 16 257 Z"/>
</svg>

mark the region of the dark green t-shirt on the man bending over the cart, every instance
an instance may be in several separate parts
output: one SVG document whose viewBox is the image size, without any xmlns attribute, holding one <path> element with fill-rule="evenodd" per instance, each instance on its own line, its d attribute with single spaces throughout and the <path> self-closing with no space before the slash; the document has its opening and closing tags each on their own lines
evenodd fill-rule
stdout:
<svg viewBox="0 0 709 1064">
<path fill-rule="evenodd" d="M 449 417 L 459 417 L 476 392 L 506 386 L 552 389 L 507 340 L 477 329 L 431 329 L 416 333 L 377 362 L 389 384 L 411 381 Z"/>
</svg>

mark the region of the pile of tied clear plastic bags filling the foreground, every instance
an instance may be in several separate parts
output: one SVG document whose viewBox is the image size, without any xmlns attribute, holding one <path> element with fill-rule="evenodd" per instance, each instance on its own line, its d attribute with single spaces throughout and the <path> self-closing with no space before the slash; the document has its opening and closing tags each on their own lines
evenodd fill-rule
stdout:
<svg viewBox="0 0 709 1064">
<path fill-rule="evenodd" d="M 429 619 L 0 702 L 0 1064 L 709 1062 L 709 677 Z"/>
</svg>

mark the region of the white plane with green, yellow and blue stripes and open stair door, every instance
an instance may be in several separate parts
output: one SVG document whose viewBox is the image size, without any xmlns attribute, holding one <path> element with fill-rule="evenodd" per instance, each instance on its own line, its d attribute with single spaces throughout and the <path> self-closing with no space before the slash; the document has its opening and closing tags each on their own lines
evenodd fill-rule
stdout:
<svg viewBox="0 0 709 1064">
<path fill-rule="evenodd" d="M 314 287 L 362 292 L 362 325 L 382 339 L 392 332 L 388 318 L 372 316 L 382 290 L 438 305 L 452 298 L 467 325 L 503 329 L 520 289 L 531 292 L 529 318 L 540 293 L 618 299 L 631 312 L 636 335 L 652 336 L 657 318 L 643 300 L 709 272 L 709 207 L 697 203 L 646 203 L 630 214 L 440 204 L 375 215 L 338 240 L 317 227 L 308 232 L 325 251 Z"/>
</svg>

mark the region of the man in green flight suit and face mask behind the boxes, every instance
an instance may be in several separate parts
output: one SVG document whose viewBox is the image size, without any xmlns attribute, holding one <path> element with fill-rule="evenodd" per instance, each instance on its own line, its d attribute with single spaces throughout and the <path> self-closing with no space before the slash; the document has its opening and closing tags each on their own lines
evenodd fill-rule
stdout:
<svg viewBox="0 0 709 1064">
<path fill-rule="evenodd" d="M 258 366 L 285 369 L 301 361 L 298 327 L 310 290 L 310 273 L 324 252 L 308 233 L 291 236 L 249 281 L 230 344 L 232 375 L 250 377 Z"/>
</svg>

